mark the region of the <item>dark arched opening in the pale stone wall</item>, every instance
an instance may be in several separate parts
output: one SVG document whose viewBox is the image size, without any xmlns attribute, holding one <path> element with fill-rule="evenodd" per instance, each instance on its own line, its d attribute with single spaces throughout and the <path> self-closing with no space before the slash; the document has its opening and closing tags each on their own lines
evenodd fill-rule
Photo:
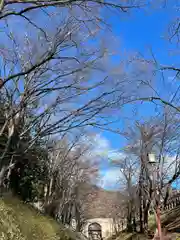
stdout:
<svg viewBox="0 0 180 240">
<path fill-rule="evenodd" d="M 94 222 L 88 226 L 88 236 L 90 240 L 102 240 L 102 227 L 99 223 Z"/>
</svg>

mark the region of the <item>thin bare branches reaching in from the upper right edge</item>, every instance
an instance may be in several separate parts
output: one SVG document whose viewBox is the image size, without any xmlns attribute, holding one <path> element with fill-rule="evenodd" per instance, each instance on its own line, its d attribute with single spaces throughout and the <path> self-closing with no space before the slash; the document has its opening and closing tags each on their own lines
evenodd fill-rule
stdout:
<svg viewBox="0 0 180 240">
<path fill-rule="evenodd" d="M 157 1 L 151 5 L 152 8 L 149 7 L 148 9 L 150 11 L 153 11 L 154 7 L 156 9 L 163 7 L 165 11 L 173 10 L 168 28 L 163 32 L 163 35 L 166 36 L 164 42 L 166 42 L 168 47 L 167 49 L 162 49 L 162 51 L 166 51 L 167 54 L 175 57 L 171 57 L 171 62 L 166 63 L 165 59 L 158 59 L 158 53 L 153 51 L 151 47 L 149 49 L 149 58 L 144 57 L 143 53 L 138 53 L 138 55 L 133 57 L 131 63 L 135 74 L 132 83 L 138 86 L 138 89 L 134 91 L 130 101 L 137 101 L 138 103 L 150 102 L 157 108 L 159 106 L 166 106 L 172 108 L 179 115 L 180 67 L 176 60 L 179 56 L 179 4 L 177 1 L 169 2 L 165 0 Z M 161 35 L 162 33 L 159 34 Z"/>
</svg>

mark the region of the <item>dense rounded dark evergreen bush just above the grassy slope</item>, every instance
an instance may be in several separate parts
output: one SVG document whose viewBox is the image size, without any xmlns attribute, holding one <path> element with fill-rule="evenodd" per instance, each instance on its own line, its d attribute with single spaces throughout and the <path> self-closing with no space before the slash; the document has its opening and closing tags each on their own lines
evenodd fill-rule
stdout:
<svg viewBox="0 0 180 240">
<path fill-rule="evenodd" d="M 10 175 L 9 187 L 23 201 L 36 201 L 43 198 L 43 187 L 46 178 L 45 154 L 43 149 L 30 149 L 22 154 Z"/>
</svg>

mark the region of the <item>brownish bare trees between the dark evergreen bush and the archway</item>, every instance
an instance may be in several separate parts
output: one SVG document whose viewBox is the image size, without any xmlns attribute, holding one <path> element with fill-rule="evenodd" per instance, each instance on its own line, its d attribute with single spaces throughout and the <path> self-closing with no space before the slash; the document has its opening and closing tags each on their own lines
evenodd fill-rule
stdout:
<svg viewBox="0 0 180 240">
<path fill-rule="evenodd" d="M 71 144 L 63 138 L 50 149 L 47 162 L 49 174 L 45 186 L 45 210 L 68 225 L 75 219 L 78 231 L 85 221 L 87 193 L 82 190 L 83 184 L 90 184 L 97 174 L 97 166 L 93 159 L 89 159 L 88 150 L 81 141 L 81 135 Z"/>
</svg>

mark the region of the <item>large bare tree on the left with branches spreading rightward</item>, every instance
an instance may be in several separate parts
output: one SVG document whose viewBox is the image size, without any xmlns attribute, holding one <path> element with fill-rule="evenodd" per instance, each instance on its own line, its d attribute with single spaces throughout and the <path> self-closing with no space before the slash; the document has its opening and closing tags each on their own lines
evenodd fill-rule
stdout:
<svg viewBox="0 0 180 240">
<path fill-rule="evenodd" d="M 7 26 L 12 57 L 8 53 L 3 55 L 3 75 L 7 77 L 1 89 L 4 96 L 1 135 L 6 129 L 8 134 L 1 155 L 1 182 L 10 167 L 6 155 L 12 144 L 18 146 L 19 141 L 30 134 L 25 152 L 38 139 L 95 126 L 97 116 L 113 104 L 111 95 L 123 92 L 118 87 L 122 82 L 107 90 L 109 79 L 105 75 L 88 81 L 91 74 L 101 70 L 97 64 L 103 51 L 79 53 L 76 42 L 79 27 L 68 19 L 53 35 L 49 34 L 48 40 L 41 34 L 38 43 L 25 38 L 24 50 Z M 98 119 L 98 124 L 107 123 Z"/>
</svg>

